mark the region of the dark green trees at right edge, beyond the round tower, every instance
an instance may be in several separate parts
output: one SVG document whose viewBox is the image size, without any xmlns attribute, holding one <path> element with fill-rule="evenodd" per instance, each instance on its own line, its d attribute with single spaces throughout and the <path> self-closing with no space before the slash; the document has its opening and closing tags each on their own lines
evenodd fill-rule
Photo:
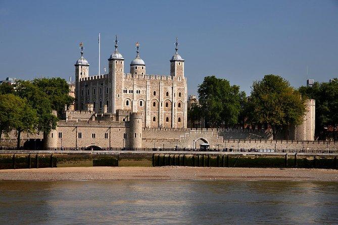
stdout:
<svg viewBox="0 0 338 225">
<path fill-rule="evenodd" d="M 336 139 L 335 133 L 327 128 L 337 130 L 338 127 L 338 78 L 331 82 L 315 82 L 311 87 L 302 86 L 299 91 L 303 96 L 316 100 L 316 128 L 315 135 L 325 140 Z"/>
</svg>

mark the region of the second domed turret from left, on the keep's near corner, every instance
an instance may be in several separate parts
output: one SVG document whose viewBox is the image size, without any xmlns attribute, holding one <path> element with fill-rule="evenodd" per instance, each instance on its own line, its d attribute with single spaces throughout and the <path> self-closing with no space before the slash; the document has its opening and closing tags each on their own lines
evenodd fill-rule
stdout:
<svg viewBox="0 0 338 225">
<path fill-rule="evenodd" d="M 117 36 L 115 39 L 115 51 L 110 55 L 109 62 L 109 83 L 110 89 L 109 98 L 111 104 L 108 106 L 108 112 L 115 113 L 116 109 L 123 108 L 123 98 L 120 94 L 123 91 L 124 80 L 124 59 L 122 54 L 118 52 Z"/>
</svg>

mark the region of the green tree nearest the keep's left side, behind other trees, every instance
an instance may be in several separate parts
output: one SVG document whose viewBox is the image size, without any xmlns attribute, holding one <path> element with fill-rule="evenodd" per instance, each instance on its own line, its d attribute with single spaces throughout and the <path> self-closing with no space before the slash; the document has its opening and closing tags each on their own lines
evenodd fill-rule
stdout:
<svg viewBox="0 0 338 225">
<path fill-rule="evenodd" d="M 58 117 L 62 119 L 65 112 L 65 105 L 69 106 L 74 102 L 74 98 L 69 96 L 69 85 L 62 78 L 38 78 L 32 82 L 36 85 L 51 102 L 53 110 L 58 112 Z"/>
</svg>

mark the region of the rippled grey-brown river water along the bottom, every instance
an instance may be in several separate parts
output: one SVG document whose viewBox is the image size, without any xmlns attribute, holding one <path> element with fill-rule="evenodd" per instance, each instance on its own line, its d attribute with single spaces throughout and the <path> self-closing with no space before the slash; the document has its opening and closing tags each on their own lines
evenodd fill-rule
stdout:
<svg viewBox="0 0 338 225">
<path fill-rule="evenodd" d="M 5 181 L 0 224 L 338 223 L 338 182 Z"/>
</svg>

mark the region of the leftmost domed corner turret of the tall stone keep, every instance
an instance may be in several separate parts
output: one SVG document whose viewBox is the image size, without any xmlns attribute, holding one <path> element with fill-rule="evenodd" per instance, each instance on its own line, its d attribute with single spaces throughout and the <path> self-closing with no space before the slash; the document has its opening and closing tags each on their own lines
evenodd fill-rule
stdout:
<svg viewBox="0 0 338 225">
<path fill-rule="evenodd" d="M 83 43 L 80 43 L 81 57 L 75 63 L 75 109 L 83 110 L 84 105 L 79 101 L 80 93 L 80 79 L 89 76 L 89 64 L 86 59 L 83 58 Z"/>
</svg>

